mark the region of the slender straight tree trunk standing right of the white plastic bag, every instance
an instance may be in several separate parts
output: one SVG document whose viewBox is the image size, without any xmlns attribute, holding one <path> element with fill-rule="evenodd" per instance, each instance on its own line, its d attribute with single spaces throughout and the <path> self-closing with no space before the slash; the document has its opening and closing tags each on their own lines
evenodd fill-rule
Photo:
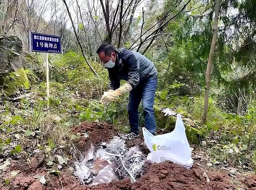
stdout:
<svg viewBox="0 0 256 190">
<path fill-rule="evenodd" d="M 209 53 L 209 58 L 208 58 L 208 63 L 206 67 L 206 73 L 205 73 L 205 84 L 204 84 L 204 113 L 202 116 L 202 121 L 201 125 L 205 125 L 206 123 L 206 118 L 207 118 L 207 113 L 208 113 L 208 101 L 209 101 L 209 88 L 210 88 L 210 74 L 212 70 L 212 58 L 214 55 L 214 49 L 216 46 L 216 41 L 217 41 L 217 36 L 218 36 L 218 16 L 219 16 L 219 7 L 220 7 L 220 0 L 216 0 L 215 3 L 215 12 L 214 12 L 214 23 L 212 26 L 213 29 L 213 35 L 212 35 L 212 44 L 211 44 L 211 49 Z"/>
</svg>

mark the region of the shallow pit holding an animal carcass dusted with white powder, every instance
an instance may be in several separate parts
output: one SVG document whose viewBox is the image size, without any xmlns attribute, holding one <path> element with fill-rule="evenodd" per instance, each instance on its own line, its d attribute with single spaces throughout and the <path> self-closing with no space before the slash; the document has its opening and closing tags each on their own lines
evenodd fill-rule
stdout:
<svg viewBox="0 0 256 190">
<path fill-rule="evenodd" d="M 142 176 L 146 155 L 138 145 L 128 148 L 124 139 L 114 136 L 98 147 L 91 145 L 84 158 L 74 163 L 74 174 L 83 184 L 93 186 L 126 177 L 135 182 Z"/>
</svg>

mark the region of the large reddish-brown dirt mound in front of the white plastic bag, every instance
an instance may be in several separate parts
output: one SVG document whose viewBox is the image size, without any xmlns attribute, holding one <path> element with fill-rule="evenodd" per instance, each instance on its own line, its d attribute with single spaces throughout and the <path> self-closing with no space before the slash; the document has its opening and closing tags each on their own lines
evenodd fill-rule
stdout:
<svg viewBox="0 0 256 190">
<path fill-rule="evenodd" d="M 203 177 L 204 172 L 198 168 L 186 169 L 171 162 L 148 164 L 144 175 L 135 183 L 128 179 L 100 184 L 92 190 L 233 190 L 236 189 L 226 173 L 208 172 L 210 182 Z"/>
</svg>

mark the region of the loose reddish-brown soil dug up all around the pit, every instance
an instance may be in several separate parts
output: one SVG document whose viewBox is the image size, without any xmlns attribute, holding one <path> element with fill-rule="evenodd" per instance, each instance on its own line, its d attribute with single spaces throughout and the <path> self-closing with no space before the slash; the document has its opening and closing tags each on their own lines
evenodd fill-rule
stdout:
<svg viewBox="0 0 256 190">
<path fill-rule="evenodd" d="M 88 138 L 76 139 L 75 145 L 85 150 L 91 143 L 97 145 L 101 141 L 108 141 L 117 131 L 106 123 L 82 123 L 72 129 L 73 133 L 88 133 Z M 128 147 L 139 145 L 144 153 L 148 149 L 143 145 L 143 137 L 126 141 Z M 68 170 L 69 166 L 61 169 L 60 175 L 49 174 L 49 167 L 44 163 L 44 155 L 36 153 L 30 158 L 30 163 L 24 161 L 11 162 L 10 172 L 20 170 L 15 177 L 8 178 L 9 190 L 233 190 L 236 186 L 227 173 L 212 170 L 206 171 L 210 182 L 206 182 L 203 177 L 204 170 L 194 164 L 193 168 L 186 169 L 171 162 L 150 164 L 146 163 L 144 174 L 135 183 L 131 183 L 128 178 L 121 181 L 114 181 L 108 184 L 97 186 L 84 186 Z M 8 171 L 9 173 L 9 171 Z M 34 175 L 44 175 L 46 184 L 42 185 Z M 256 189 L 256 175 L 248 177 L 242 182 L 246 188 Z M 3 184 L 3 181 L 2 181 Z M 1 187 L 0 187 L 1 189 Z"/>
</svg>

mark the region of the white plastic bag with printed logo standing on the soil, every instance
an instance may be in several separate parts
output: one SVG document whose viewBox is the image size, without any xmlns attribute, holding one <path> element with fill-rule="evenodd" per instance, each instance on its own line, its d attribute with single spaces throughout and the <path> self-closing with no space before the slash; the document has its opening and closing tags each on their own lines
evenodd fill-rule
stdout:
<svg viewBox="0 0 256 190">
<path fill-rule="evenodd" d="M 145 143 L 151 152 L 148 154 L 148 160 L 153 163 L 169 160 L 185 166 L 193 165 L 191 149 L 180 114 L 177 114 L 176 125 L 171 133 L 154 136 L 145 127 L 142 131 Z"/>
</svg>

